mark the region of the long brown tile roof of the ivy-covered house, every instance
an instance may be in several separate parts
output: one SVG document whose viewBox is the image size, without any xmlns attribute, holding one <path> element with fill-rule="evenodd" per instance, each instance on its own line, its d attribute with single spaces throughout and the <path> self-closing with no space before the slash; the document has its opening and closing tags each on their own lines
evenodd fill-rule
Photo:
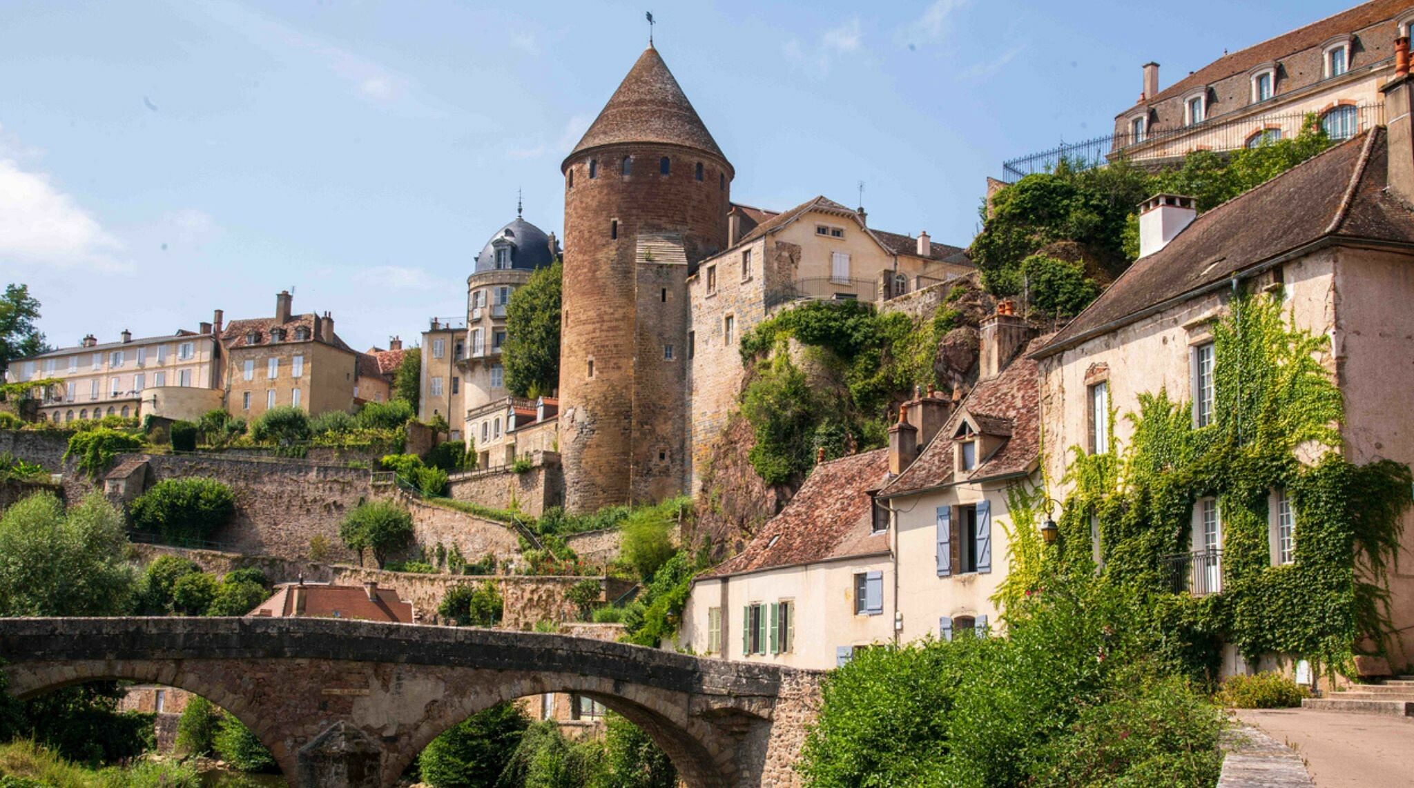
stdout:
<svg viewBox="0 0 1414 788">
<path fill-rule="evenodd" d="M 1376 127 L 1202 213 L 1168 246 L 1130 265 L 1036 356 L 1321 239 L 1414 243 L 1414 213 L 1384 192 L 1386 137 Z"/>
</svg>

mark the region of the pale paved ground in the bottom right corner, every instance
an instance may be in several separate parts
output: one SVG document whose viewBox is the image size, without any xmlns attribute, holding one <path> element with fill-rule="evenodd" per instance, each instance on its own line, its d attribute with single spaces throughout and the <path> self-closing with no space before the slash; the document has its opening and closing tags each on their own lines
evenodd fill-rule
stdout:
<svg viewBox="0 0 1414 788">
<path fill-rule="evenodd" d="M 1241 709 L 1237 717 L 1291 744 L 1316 788 L 1414 785 L 1414 719 L 1315 709 Z"/>
</svg>

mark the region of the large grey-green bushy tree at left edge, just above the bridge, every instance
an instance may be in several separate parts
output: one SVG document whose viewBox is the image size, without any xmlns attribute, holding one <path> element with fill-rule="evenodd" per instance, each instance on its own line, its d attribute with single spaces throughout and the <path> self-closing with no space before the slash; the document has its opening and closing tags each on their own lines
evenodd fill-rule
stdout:
<svg viewBox="0 0 1414 788">
<path fill-rule="evenodd" d="M 0 515 L 0 616 L 122 616 L 136 580 L 123 514 L 93 493 L 76 507 L 37 493 Z"/>
</svg>

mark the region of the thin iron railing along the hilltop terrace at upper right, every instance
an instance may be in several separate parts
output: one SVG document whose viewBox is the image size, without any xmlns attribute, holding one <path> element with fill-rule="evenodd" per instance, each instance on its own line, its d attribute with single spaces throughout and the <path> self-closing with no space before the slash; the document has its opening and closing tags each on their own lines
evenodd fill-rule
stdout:
<svg viewBox="0 0 1414 788">
<path fill-rule="evenodd" d="M 1234 151 L 1260 144 L 1264 140 L 1295 137 L 1307 116 L 1314 113 L 1287 112 L 1232 117 L 1233 114 L 1236 113 L 1212 117 L 1193 126 L 1150 129 L 1137 137 L 1126 131 L 1080 143 L 1060 143 L 1048 151 L 1004 161 L 1001 179 L 1007 184 L 1015 184 L 1035 172 L 1052 172 L 1062 161 L 1073 169 L 1089 169 L 1120 157 L 1130 161 L 1158 161 L 1176 160 L 1188 151 L 1199 148 L 1217 153 Z M 1336 107 L 1321 116 L 1322 129 L 1333 140 L 1350 138 L 1383 121 L 1383 105 Z M 1174 143 L 1185 140 L 1189 143 L 1188 145 L 1182 148 L 1174 145 Z"/>
</svg>

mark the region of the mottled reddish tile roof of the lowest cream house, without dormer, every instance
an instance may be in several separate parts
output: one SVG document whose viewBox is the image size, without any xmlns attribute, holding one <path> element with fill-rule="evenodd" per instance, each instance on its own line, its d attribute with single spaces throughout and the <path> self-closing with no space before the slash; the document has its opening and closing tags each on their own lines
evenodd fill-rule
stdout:
<svg viewBox="0 0 1414 788">
<path fill-rule="evenodd" d="M 874 511 L 868 494 L 887 477 L 888 449 L 814 466 L 781 514 L 766 521 L 744 551 L 704 576 L 888 552 L 887 535 L 870 532 Z"/>
</svg>

